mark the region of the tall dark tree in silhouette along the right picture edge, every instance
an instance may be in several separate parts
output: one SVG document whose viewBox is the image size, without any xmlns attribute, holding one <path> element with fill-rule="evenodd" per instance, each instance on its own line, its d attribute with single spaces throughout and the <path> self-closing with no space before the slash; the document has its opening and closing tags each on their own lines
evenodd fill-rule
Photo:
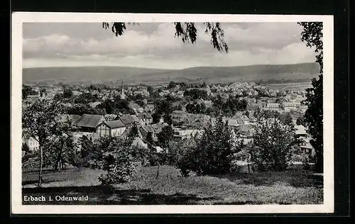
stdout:
<svg viewBox="0 0 355 224">
<path fill-rule="evenodd" d="M 310 144 L 315 148 L 315 171 L 323 172 L 323 23 L 298 23 L 302 26 L 301 40 L 307 47 L 315 47 L 316 62 L 320 65 L 320 76 L 312 79 L 312 87 L 306 89 L 308 106 L 305 112 L 305 122 L 308 133 L 312 136 Z"/>
</svg>

